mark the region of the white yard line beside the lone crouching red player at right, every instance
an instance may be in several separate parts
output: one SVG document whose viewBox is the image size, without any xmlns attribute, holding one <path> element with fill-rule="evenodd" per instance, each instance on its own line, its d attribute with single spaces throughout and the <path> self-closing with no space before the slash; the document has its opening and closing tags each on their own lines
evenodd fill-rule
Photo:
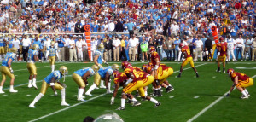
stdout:
<svg viewBox="0 0 256 122">
<path fill-rule="evenodd" d="M 252 78 L 255 78 L 256 75 L 254 75 Z M 223 96 L 220 96 L 217 100 L 215 100 L 214 102 L 212 102 L 209 106 L 205 107 L 204 109 L 201 110 L 201 112 L 197 113 L 193 118 L 189 119 L 187 122 L 192 122 L 194 121 L 195 119 L 197 119 L 199 116 L 201 116 L 201 114 L 205 113 L 208 109 L 210 109 L 211 107 L 213 107 L 215 104 L 217 104 L 219 101 L 221 101 L 225 95 L 227 94 L 228 92 L 224 93 Z"/>
</svg>

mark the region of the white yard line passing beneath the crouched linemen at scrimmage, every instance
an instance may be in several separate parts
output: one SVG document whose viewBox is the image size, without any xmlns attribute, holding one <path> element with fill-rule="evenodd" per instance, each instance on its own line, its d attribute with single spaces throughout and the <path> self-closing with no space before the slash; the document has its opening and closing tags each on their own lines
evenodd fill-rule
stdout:
<svg viewBox="0 0 256 122">
<path fill-rule="evenodd" d="M 207 63 L 203 63 L 203 64 L 197 65 L 197 66 L 195 66 L 195 67 L 200 67 L 200 66 L 203 66 L 203 65 L 206 65 L 206 64 L 207 64 Z M 183 69 L 183 70 L 187 70 L 187 69 L 189 69 L 189 68 L 191 68 L 191 67 L 185 68 L 185 69 Z M 176 71 L 176 72 L 174 72 L 174 73 L 178 73 L 178 72 L 179 72 L 179 71 Z M 119 88 L 119 89 L 120 89 L 120 88 Z M 107 93 L 104 93 L 104 94 L 99 95 L 99 96 L 92 97 L 92 98 L 90 98 L 89 100 L 87 100 L 87 101 L 85 101 L 85 102 L 90 102 L 90 101 L 92 101 L 92 100 L 94 100 L 94 99 L 96 99 L 96 98 L 98 98 L 98 97 L 105 96 L 106 94 L 107 94 Z M 61 112 L 65 111 L 65 110 L 67 110 L 67 109 L 69 109 L 69 108 L 79 106 L 80 104 L 83 104 L 83 103 L 84 103 L 84 102 L 76 103 L 76 104 L 74 104 L 74 105 L 72 105 L 72 106 L 70 106 L 70 107 L 66 107 L 66 108 L 63 108 L 63 109 L 61 109 L 61 110 L 55 111 L 54 113 L 46 114 L 46 115 L 44 115 L 44 116 L 42 116 L 42 117 L 39 117 L 38 119 L 32 119 L 32 120 L 30 120 L 29 122 L 34 122 L 34 121 L 37 121 L 37 120 L 39 120 L 39 119 L 47 118 L 47 117 L 49 117 L 49 116 L 51 116 L 51 115 L 54 115 L 55 113 L 61 113 Z"/>
</svg>

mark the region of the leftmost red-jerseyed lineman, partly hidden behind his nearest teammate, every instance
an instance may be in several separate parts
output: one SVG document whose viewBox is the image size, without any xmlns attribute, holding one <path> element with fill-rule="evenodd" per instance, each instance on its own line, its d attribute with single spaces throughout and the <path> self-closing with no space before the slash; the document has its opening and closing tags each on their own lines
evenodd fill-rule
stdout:
<svg viewBox="0 0 256 122">
<path fill-rule="evenodd" d="M 125 82 L 127 80 L 127 76 L 125 73 L 119 73 L 119 71 L 115 70 L 113 71 L 113 83 L 115 84 L 114 90 L 113 90 L 113 96 L 111 97 L 110 104 L 113 105 L 114 98 L 118 93 L 120 86 L 125 86 Z M 127 94 L 127 96 L 130 98 L 131 102 L 133 102 L 133 106 L 139 106 L 141 105 L 140 102 L 137 102 L 137 100 L 131 95 Z"/>
</svg>

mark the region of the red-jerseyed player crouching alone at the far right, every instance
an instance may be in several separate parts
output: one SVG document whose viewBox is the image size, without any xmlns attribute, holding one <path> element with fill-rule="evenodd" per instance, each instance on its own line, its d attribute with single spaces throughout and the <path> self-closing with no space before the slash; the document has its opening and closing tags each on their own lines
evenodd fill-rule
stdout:
<svg viewBox="0 0 256 122">
<path fill-rule="evenodd" d="M 253 78 L 250 78 L 244 73 L 235 72 L 232 68 L 228 69 L 227 73 L 230 75 L 233 84 L 226 96 L 230 96 L 230 92 L 232 92 L 232 90 L 234 90 L 234 88 L 236 87 L 238 90 L 241 91 L 241 99 L 249 98 L 250 94 L 246 88 L 253 85 Z"/>
</svg>

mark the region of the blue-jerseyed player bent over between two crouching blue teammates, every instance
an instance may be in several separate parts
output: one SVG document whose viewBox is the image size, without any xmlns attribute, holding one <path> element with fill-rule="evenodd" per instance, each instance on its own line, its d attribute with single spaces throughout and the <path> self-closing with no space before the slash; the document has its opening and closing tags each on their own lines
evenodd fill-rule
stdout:
<svg viewBox="0 0 256 122">
<path fill-rule="evenodd" d="M 90 68 L 79 69 L 73 73 L 72 78 L 79 85 L 78 101 L 84 102 L 83 93 L 86 84 L 88 84 L 87 79 L 93 76 L 98 70 L 99 67 L 93 65 Z"/>
</svg>

